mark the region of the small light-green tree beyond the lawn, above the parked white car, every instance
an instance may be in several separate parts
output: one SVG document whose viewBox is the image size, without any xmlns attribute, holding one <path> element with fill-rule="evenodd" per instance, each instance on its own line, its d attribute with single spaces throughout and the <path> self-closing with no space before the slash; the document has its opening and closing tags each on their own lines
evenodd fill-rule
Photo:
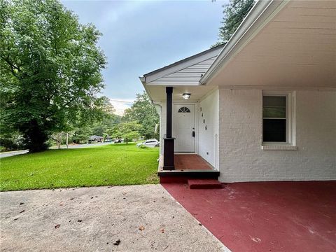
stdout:
<svg viewBox="0 0 336 252">
<path fill-rule="evenodd" d="M 140 137 L 139 130 L 141 129 L 141 125 L 136 121 L 133 122 L 123 122 L 119 123 L 111 132 L 111 136 L 116 139 L 124 139 L 126 144 L 133 139 L 137 139 Z"/>
</svg>

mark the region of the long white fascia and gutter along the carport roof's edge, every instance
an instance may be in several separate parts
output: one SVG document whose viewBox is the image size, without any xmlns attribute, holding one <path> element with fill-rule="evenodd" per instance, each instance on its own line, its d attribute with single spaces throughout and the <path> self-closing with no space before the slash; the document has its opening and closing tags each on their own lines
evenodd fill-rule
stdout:
<svg viewBox="0 0 336 252">
<path fill-rule="evenodd" d="M 200 79 L 206 85 L 290 0 L 259 0 Z"/>
</svg>

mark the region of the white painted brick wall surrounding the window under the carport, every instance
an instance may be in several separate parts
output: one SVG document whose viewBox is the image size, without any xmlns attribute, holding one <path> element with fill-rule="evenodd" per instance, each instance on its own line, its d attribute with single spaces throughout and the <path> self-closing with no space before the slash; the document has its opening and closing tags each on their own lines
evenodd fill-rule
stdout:
<svg viewBox="0 0 336 252">
<path fill-rule="evenodd" d="M 262 90 L 219 90 L 221 182 L 336 180 L 336 92 L 295 93 L 297 151 L 262 151 Z"/>
</svg>

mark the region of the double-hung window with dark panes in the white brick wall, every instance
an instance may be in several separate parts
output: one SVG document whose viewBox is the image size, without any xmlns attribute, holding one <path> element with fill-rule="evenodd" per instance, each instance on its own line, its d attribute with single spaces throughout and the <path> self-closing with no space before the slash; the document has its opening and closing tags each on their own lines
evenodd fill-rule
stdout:
<svg viewBox="0 0 336 252">
<path fill-rule="evenodd" d="M 288 94 L 263 94 L 262 143 L 290 143 Z"/>
</svg>

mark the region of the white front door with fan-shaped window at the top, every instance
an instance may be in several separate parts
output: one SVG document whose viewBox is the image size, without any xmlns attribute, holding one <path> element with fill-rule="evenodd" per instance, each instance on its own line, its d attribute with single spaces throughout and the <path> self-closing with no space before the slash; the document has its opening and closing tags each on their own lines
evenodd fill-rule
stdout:
<svg viewBox="0 0 336 252">
<path fill-rule="evenodd" d="M 174 104 L 173 137 L 175 152 L 195 152 L 195 105 Z"/>
</svg>

